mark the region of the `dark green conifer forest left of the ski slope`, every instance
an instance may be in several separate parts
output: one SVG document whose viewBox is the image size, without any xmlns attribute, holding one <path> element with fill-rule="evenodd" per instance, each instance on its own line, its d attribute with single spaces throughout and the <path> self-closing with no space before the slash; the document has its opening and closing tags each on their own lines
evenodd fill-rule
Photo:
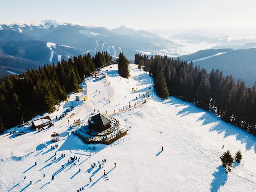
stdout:
<svg viewBox="0 0 256 192">
<path fill-rule="evenodd" d="M 106 65 L 112 56 L 97 52 L 62 60 L 57 65 L 28 69 L 21 75 L 11 75 L 0 81 L 0 133 L 29 121 L 36 115 L 54 112 L 55 105 L 67 99 L 67 94 L 79 90 L 84 76 Z"/>
</svg>

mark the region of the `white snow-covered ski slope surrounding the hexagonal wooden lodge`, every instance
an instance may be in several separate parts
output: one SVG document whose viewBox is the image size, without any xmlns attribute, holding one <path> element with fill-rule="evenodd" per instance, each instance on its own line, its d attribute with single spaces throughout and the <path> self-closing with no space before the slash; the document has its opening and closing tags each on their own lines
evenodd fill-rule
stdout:
<svg viewBox="0 0 256 192">
<path fill-rule="evenodd" d="M 106 69 L 107 78 L 91 78 L 83 86 L 87 101 L 75 100 L 75 96 L 85 93 L 72 94 L 68 103 L 56 107 L 58 111 L 45 114 L 52 118 L 54 127 L 41 132 L 29 127 L 13 127 L 0 135 L 0 191 L 77 192 L 80 188 L 96 192 L 256 190 L 254 136 L 190 103 L 173 97 L 159 99 L 153 89 L 153 79 L 136 65 L 130 65 L 129 79 L 118 76 L 116 65 L 114 69 L 105 67 L 103 71 Z M 131 92 L 132 88 L 136 92 Z M 150 99 L 145 105 L 118 112 L 123 107 L 126 109 L 129 102 L 133 106 L 147 91 Z M 59 117 L 70 105 L 75 107 L 74 110 L 56 121 L 56 116 Z M 94 113 L 94 109 L 95 112 L 113 114 L 120 126 L 128 130 L 127 135 L 111 145 L 86 145 L 70 134 L 71 123 L 79 118 L 86 121 L 86 116 Z M 114 110 L 118 113 L 114 114 Z M 70 117 L 72 113 L 75 115 Z M 34 119 L 37 118 L 40 117 Z M 10 135 L 9 132 L 14 130 L 26 133 Z M 61 141 L 51 141 L 53 132 L 60 134 Z M 56 144 L 58 148 L 52 149 Z M 226 174 L 220 155 L 230 150 L 234 156 L 239 149 L 243 155 L 241 163 L 235 163 L 232 172 Z M 62 154 L 65 157 L 61 157 Z M 68 162 L 74 155 L 79 161 Z M 52 161 L 54 157 L 55 162 Z M 103 159 L 106 163 L 99 168 Z M 92 163 L 96 164 L 94 169 Z"/>
</svg>

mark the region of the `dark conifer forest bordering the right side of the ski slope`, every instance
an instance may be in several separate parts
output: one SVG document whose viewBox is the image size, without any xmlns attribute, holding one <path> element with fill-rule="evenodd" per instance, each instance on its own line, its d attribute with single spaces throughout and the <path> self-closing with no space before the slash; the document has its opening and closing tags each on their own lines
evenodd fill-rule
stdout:
<svg viewBox="0 0 256 192">
<path fill-rule="evenodd" d="M 246 87 L 243 80 L 235 82 L 222 71 L 193 66 L 179 58 L 167 56 L 148 58 L 135 54 L 135 63 L 153 76 L 157 94 L 166 99 L 175 96 L 211 111 L 223 121 L 245 129 L 256 136 L 256 83 Z"/>
</svg>

